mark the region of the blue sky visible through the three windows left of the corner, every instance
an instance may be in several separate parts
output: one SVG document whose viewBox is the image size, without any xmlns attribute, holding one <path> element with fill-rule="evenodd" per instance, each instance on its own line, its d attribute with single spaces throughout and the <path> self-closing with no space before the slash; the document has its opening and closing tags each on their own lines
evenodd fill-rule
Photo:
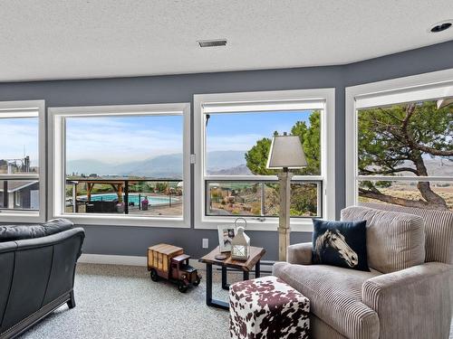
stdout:
<svg viewBox="0 0 453 339">
<path fill-rule="evenodd" d="M 310 111 L 211 114 L 207 126 L 208 151 L 246 151 L 262 137 L 290 132 Z M 30 155 L 37 165 L 38 119 L 0 119 L 0 158 Z M 182 152 L 183 118 L 180 116 L 93 117 L 66 119 L 67 160 L 96 159 L 111 164 Z"/>
</svg>

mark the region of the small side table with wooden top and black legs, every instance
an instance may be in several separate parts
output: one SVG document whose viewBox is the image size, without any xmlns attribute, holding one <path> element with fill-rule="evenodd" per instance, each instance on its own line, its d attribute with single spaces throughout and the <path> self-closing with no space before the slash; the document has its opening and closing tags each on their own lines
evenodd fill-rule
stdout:
<svg viewBox="0 0 453 339">
<path fill-rule="evenodd" d="M 243 271 L 243 279 L 248 280 L 250 271 L 255 267 L 255 278 L 260 277 L 260 261 L 265 255 L 265 249 L 261 247 L 250 247 L 250 257 L 246 261 L 231 259 L 230 255 L 226 252 L 224 254 L 228 257 L 224 260 L 216 259 L 220 251 L 218 247 L 209 252 L 206 256 L 199 259 L 200 262 L 206 264 L 206 304 L 207 306 L 214 306 L 222 309 L 229 309 L 229 304 L 225 301 L 216 300 L 212 298 L 212 265 L 217 265 L 222 268 L 222 288 L 228 289 L 229 284 L 226 281 L 226 268 L 235 268 Z"/>
</svg>

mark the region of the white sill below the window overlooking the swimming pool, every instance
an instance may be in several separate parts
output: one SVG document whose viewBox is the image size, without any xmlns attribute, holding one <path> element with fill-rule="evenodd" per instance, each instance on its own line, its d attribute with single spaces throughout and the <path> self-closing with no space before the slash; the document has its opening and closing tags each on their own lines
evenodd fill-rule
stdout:
<svg viewBox="0 0 453 339">
<path fill-rule="evenodd" d="M 108 225 L 108 226 L 132 226 L 132 227 L 162 227 L 162 228 L 190 228 L 188 221 L 182 217 L 131 217 L 130 215 L 78 215 L 64 213 L 54 215 L 54 218 L 66 218 L 77 225 Z"/>
</svg>

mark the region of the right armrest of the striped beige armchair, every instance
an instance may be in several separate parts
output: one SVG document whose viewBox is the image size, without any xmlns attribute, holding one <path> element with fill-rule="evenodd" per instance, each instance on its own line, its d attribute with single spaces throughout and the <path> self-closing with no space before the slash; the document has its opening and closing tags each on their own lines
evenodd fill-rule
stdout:
<svg viewBox="0 0 453 339">
<path fill-rule="evenodd" d="M 363 303 L 374 309 L 380 338 L 448 338 L 451 265 L 429 262 L 373 277 L 363 283 Z"/>
</svg>

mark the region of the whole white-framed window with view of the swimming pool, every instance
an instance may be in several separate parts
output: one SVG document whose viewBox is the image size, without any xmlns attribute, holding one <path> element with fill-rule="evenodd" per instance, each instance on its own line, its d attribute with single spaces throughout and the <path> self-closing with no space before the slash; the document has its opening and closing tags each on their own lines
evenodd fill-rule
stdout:
<svg viewBox="0 0 453 339">
<path fill-rule="evenodd" d="M 56 176 L 56 214 L 90 222 L 187 224 L 188 105 L 51 112 L 60 129 L 54 168 L 63 168 Z"/>
</svg>

